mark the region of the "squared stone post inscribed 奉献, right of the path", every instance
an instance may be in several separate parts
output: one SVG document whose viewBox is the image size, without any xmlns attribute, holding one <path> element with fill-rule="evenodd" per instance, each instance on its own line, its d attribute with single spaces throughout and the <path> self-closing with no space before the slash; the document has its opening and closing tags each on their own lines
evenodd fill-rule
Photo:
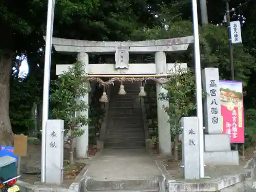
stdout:
<svg viewBox="0 0 256 192">
<path fill-rule="evenodd" d="M 185 179 L 200 179 L 198 117 L 181 118 L 182 163 Z"/>
</svg>

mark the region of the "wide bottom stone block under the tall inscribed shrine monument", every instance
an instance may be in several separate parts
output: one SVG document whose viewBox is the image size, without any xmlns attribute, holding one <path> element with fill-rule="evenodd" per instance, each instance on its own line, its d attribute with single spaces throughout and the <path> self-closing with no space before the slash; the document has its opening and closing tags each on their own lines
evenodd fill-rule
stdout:
<svg viewBox="0 0 256 192">
<path fill-rule="evenodd" d="M 204 152 L 204 163 L 206 165 L 239 165 L 238 151 Z"/>
</svg>

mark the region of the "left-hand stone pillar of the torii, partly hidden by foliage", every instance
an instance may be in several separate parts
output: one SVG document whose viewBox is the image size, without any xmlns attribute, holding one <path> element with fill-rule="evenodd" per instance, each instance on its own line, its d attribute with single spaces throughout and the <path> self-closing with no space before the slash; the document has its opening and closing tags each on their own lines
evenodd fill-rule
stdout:
<svg viewBox="0 0 256 192">
<path fill-rule="evenodd" d="M 89 65 L 89 56 L 87 53 L 78 53 L 77 60 L 82 61 L 86 67 Z M 89 93 L 80 98 L 89 104 Z M 89 109 L 86 112 L 78 112 L 80 115 L 84 115 L 89 118 Z M 83 125 L 79 129 L 84 131 L 84 134 L 76 138 L 76 157 L 88 158 L 89 148 L 89 125 Z"/>
</svg>

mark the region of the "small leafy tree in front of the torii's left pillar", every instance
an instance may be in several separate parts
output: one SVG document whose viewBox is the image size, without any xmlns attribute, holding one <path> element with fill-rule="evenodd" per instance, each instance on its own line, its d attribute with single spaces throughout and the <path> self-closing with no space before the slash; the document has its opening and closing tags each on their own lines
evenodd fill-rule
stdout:
<svg viewBox="0 0 256 192">
<path fill-rule="evenodd" d="M 52 81 L 55 87 L 50 97 L 54 105 L 52 116 L 54 119 L 63 119 L 65 129 L 70 133 L 68 144 L 71 165 L 74 163 L 74 138 L 84 133 L 79 127 L 88 124 L 88 117 L 81 115 L 82 112 L 88 110 L 88 103 L 79 99 L 89 91 L 89 81 L 84 78 L 86 74 L 84 69 L 83 63 L 77 61 L 68 72 Z M 78 111 L 80 113 L 77 113 Z"/>
</svg>

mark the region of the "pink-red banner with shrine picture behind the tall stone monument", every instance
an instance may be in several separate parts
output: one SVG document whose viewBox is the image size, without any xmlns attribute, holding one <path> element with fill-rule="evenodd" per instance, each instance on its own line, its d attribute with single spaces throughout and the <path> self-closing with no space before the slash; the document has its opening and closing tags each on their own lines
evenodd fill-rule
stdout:
<svg viewBox="0 0 256 192">
<path fill-rule="evenodd" d="M 222 134 L 231 143 L 244 143 L 243 83 L 220 80 Z"/>
</svg>

